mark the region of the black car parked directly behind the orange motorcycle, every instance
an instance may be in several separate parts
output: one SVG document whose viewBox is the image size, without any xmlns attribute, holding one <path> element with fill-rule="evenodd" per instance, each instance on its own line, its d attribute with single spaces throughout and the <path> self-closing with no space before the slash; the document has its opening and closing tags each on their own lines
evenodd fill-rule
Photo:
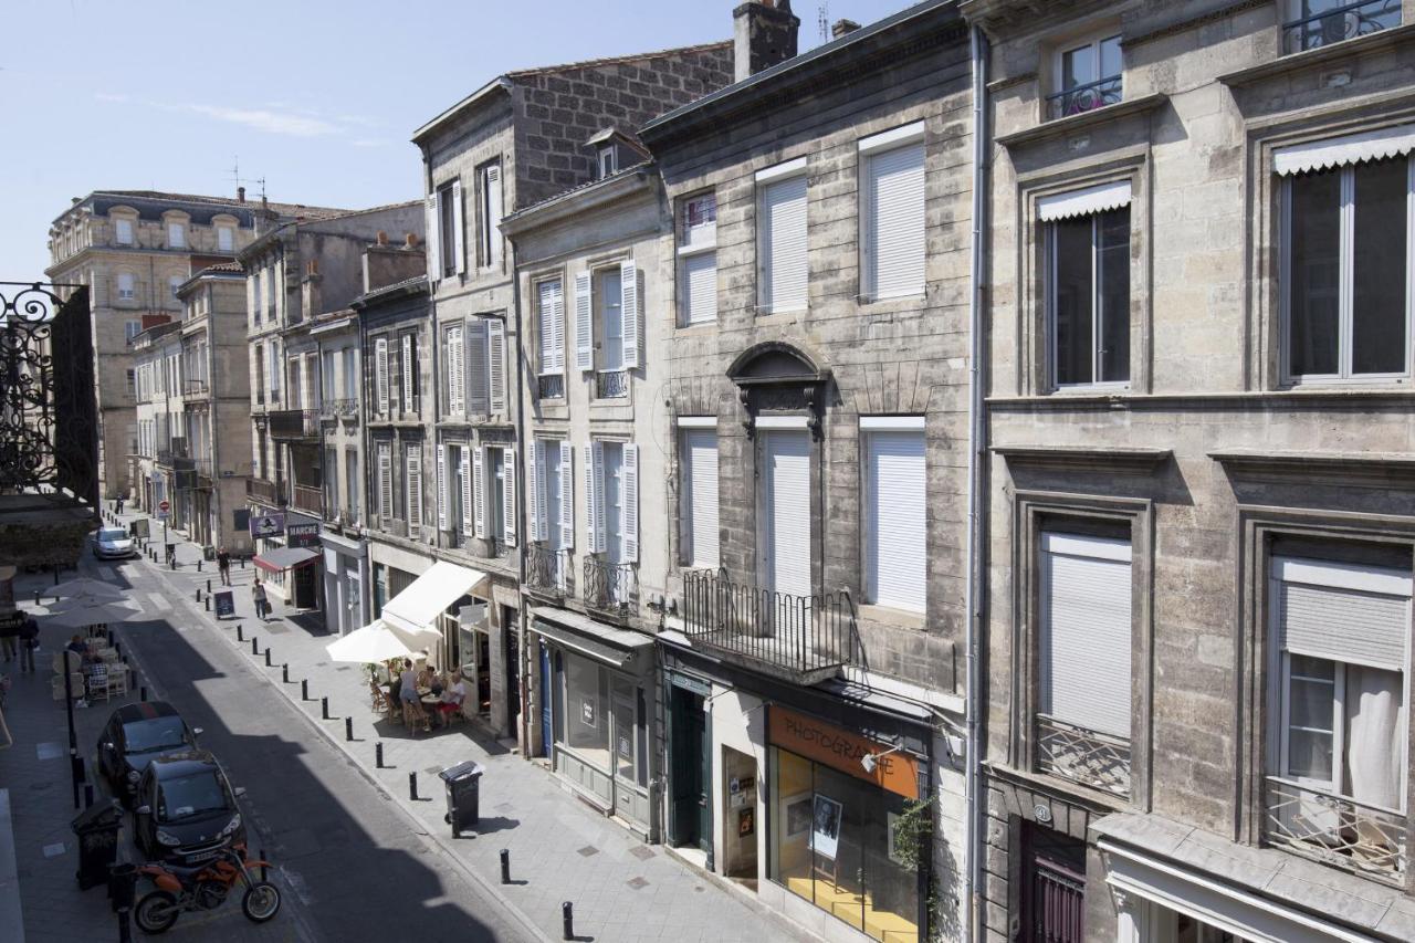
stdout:
<svg viewBox="0 0 1415 943">
<path fill-rule="evenodd" d="M 154 759 L 137 782 L 133 840 L 149 861 L 211 861 L 226 845 L 246 841 L 236 796 L 207 750 Z"/>
</svg>

